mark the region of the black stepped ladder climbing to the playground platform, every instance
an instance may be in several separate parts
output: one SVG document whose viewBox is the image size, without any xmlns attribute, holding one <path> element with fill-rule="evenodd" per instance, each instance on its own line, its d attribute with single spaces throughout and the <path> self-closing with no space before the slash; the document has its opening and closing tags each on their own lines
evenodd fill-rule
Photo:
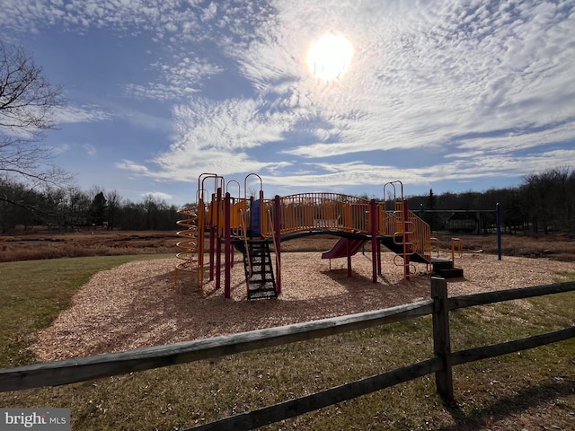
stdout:
<svg viewBox="0 0 575 431">
<path fill-rule="evenodd" d="M 244 244 L 247 244 L 247 249 Z M 243 254 L 248 299 L 277 298 L 278 289 L 273 274 L 270 242 L 249 239 L 247 242 L 235 242 L 234 245 Z"/>
</svg>

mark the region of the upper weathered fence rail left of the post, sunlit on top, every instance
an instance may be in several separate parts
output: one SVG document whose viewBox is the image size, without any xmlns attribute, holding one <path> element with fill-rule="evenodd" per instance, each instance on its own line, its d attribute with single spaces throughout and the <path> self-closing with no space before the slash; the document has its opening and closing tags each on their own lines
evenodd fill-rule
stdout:
<svg viewBox="0 0 575 431">
<path fill-rule="evenodd" d="M 42 386 L 84 382 L 162 366 L 234 355 L 263 347 L 318 339 L 351 330 L 362 330 L 385 323 L 429 315 L 432 309 L 433 301 L 427 300 L 375 312 L 361 312 L 210 339 L 184 341 L 127 352 L 8 368 L 0 370 L 0 391 L 20 391 Z"/>
</svg>

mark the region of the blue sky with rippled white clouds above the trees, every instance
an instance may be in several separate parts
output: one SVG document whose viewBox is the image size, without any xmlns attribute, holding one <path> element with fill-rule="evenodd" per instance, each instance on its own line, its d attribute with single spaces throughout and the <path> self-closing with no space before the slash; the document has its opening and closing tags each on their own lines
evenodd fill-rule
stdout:
<svg viewBox="0 0 575 431">
<path fill-rule="evenodd" d="M 0 6 L 4 43 L 64 86 L 45 144 L 82 189 L 181 205 L 203 172 L 256 172 L 266 197 L 382 197 L 575 167 L 574 0 Z"/>
</svg>

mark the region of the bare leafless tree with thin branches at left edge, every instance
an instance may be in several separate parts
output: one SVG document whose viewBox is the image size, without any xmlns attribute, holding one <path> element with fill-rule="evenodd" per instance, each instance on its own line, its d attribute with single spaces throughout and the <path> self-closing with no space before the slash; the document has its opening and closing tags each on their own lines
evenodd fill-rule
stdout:
<svg viewBox="0 0 575 431">
<path fill-rule="evenodd" d="M 49 83 L 22 47 L 0 41 L 0 171 L 32 182 L 61 184 L 69 174 L 51 163 L 40 144 L 56 128 L 54 110 L 64 103 L 62 88 Z"/>
</svg>

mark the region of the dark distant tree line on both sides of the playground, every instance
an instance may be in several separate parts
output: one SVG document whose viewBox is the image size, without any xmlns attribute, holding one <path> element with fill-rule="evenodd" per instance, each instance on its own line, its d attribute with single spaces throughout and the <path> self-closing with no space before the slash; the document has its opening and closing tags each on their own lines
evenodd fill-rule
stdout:
<svg viewBox="0 0 575 431">
<path fill-rule="evenodd" d="M 118 191 L 93 187 L 46 186 L 37 190 L 23 182 L 0 177 L 0 232 L 10 233 L 17 224 L 30 228 L 45 225 L 50 229 L 73 231 L 84 227 L 106 229 L 177 229 L 182 218 L 178 207 L 146 196 L 142 202 L 121 198 Z M 575 171 L 556 168 L 527 175 L 513 188 L 485 191 L 444 192 L 407 198 L 412 211 L 421 212 L 433 231 L 447 229 L 454 211 L 479 214 L 481 233 L 491 232 L 499 203 L 503 228 L 508 233 L 566 233 L 575 236 Z"/>
</svg>

